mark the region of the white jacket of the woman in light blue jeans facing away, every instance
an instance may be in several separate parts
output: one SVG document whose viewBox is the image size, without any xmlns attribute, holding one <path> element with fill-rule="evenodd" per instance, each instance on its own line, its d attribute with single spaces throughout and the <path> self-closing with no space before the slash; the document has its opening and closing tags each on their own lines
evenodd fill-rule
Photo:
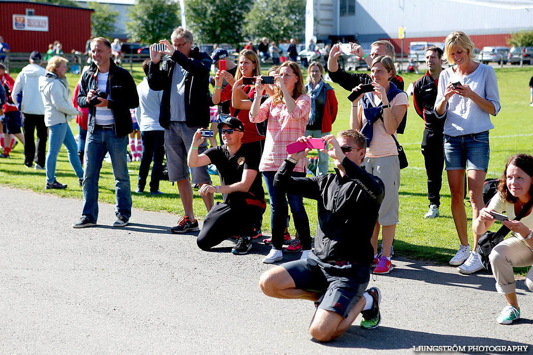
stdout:
<svg viewBox="0 0 533 355">
<path fill-rule="evenodd" d="M 46 127 L 66 123 L 78 114 L 70 101 L 67 78 L 47 71 L 44 77 L 39 77 L 39 91 L 43 97 Z"/>
</svg>

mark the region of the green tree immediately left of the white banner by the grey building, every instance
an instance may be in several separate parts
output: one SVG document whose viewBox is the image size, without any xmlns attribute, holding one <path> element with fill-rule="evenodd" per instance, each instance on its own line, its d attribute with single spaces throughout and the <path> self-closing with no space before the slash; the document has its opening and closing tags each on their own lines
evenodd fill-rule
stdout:
<svg viewBox="0 0 533 355">
<path fill-rule="evenodd" d="M 245 20 L 245 35 L 249 38 L 302 39 L 305 0 L 256 0 Z"/>
</svg>

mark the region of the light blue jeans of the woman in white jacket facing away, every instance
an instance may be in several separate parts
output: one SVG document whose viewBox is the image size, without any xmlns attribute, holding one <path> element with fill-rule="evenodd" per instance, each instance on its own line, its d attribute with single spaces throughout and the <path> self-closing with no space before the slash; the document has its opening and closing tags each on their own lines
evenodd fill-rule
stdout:
<svg viewBox="0 0 533 355">
<path fill-rule="evenodd" d="M 67 148 L 70 165 L 74 168 L 78 178 L 83 178 L 83 168 L 78 158 L 76 139 L 74 139 L 68 123 L 58 123 L 50 126 L 48 153 L 46 154 L 45 163 L 47 183 L 52 184 L 55 181 L 55 163 L 58 161 L 58 154 L 63 144 Z"/>
</svg>

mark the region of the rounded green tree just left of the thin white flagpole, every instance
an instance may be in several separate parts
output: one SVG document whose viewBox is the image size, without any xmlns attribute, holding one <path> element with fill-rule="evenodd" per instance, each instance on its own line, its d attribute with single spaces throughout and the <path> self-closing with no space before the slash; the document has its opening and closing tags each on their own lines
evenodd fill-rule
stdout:
<svg viewBox="0 0 533 355">
<path fill-rule="evenodd" d="M 134 41 L 157 43 L 179 26 L 179 3 L 172 0 L 138 0 L 128 13 L 126 30 Z"/>
</svg>

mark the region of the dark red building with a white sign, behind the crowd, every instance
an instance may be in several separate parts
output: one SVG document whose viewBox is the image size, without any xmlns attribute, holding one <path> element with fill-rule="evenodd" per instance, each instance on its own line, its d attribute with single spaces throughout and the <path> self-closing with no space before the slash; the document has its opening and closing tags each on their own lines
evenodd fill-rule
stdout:
<svg viewBox="0 0 533 355">
<path fill-rule="evenodd" d="M 91 36 L 91 13 L 83 7 L 70 7 L 29 1 L 0 0 L 0 36 L 11 52 L 39 51 L 59 40 L 63 52 L 85 52 Z"/>
</svg>

